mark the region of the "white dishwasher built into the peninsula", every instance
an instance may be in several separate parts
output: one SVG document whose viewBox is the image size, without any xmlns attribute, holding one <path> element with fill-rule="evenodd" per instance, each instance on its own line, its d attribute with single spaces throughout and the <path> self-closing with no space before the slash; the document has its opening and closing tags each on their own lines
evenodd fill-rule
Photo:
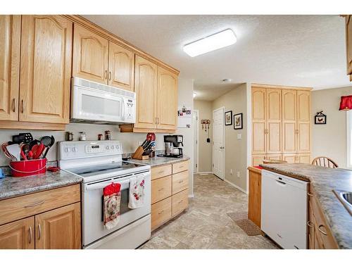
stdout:
<svg viewBox="0 0 352 264">
<path fill-rule="evenodd" d="M 307 248 L 308 182 L 262 170 L 261 229 L 283 249 Z"/>
</svg>

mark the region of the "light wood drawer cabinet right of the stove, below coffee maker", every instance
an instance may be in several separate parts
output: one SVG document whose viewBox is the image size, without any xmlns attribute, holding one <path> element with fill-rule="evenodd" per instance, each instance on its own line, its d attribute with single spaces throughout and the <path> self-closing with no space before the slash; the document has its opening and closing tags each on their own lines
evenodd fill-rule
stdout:
<svg viewBox="0 0 352 264">
<path fill-rule="evenodd" d="M 188 207 L 189 161 L 151 168 L 151 230 Z"/>
</svg>

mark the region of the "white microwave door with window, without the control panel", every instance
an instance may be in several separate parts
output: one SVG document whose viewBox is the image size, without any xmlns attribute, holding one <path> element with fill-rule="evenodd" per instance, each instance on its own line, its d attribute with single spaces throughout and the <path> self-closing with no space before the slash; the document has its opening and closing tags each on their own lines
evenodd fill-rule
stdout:
<svg viewBox="0 0 352 264">
<path fill-rule="evenodd" d="M 125 122 L 125 97 L 119 94 L 73 87 L 73 120 Z"/>
</svg>

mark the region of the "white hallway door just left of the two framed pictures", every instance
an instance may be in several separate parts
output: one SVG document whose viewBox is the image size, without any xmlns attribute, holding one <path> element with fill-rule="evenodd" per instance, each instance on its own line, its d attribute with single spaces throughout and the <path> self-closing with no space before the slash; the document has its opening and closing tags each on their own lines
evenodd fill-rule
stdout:
<svg viewBox="0 0 352 264">
<path fill-rule="evenodd" d="M 213 173 L 225 179 L 225 136 L 224 111 L 219 108 L 213 111 Z"/>
</svg>

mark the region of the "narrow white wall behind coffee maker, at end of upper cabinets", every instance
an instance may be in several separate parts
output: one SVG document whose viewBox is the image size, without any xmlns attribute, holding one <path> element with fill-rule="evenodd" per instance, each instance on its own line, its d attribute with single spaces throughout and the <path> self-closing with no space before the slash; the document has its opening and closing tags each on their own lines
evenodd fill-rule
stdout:
<svg viewBox="0 0 352 264">
<path fill-rule="evenodd" d="M 194 84 L 191 79 L 184 79 L 182 77 L 178 80 L 178 102 L 179 106 L 186 106 L 187 108 L 191 108 L 193 112 L 194 104 L 193 104 L 193 89 Z M 194 149 L 194 127 L 193 123 L 191 123 L 191 127 L 188 128 L 177 128 L 176 134 L 182 134 L 184 137 L 184 147 L 183 152 L 184 155 L 189 156 L 191 158 L 191 162 L 189 164 L 189 195 L 193 196 L 193 149 Z"/>
</svg>

